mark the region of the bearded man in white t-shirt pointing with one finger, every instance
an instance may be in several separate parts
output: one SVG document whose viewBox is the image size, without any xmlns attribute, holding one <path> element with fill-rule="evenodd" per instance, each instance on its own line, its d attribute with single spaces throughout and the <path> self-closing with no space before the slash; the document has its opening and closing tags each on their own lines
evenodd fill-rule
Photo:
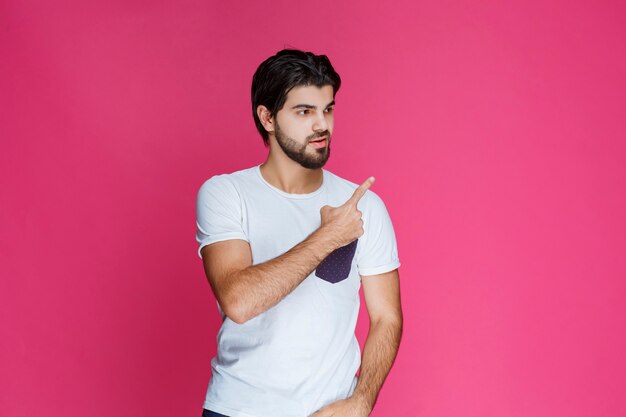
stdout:
<svg viewBox="0 0 626 417">
<path fill-rule="evenodd" d="M 223 317 L 204 417 L 366 417 L 395 359 L 391 220 L 368 190 L 373 177 L 357 187 L 322 168 L 340 84 L 324 55 L 282 50 L 265 60 L 252 109 L 267 160 L 200 187 L 198 253 Z M 361 284 L 370 317 L 362 358 Z"/>
</svg>

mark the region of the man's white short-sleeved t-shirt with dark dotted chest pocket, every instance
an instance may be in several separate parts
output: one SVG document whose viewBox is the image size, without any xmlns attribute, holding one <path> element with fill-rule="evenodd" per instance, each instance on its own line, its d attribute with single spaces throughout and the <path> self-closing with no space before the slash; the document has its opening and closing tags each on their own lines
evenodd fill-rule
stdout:
<svg viewBox="0 0 626 417">
<path fill-rule="evenodd" d="M 309 194 L 272 186 L 259 165 L 208 179 L 196 204 L 198 256 L 208 244 L 243 239 L 256 265 L 305 240 L 321 224 L 320 208 L 344 204 L 358 186 L 322 171 L 322 186 Z M 231 417 L 307 417 L 352 394 L 361 362 L 354 334 L 360 275 L 400 266 L 383 201 L 368 190 L 357 207 L 364 234 L 278 304 L 243 324 L 222 313 L 204 408 Z"/>
</svg>

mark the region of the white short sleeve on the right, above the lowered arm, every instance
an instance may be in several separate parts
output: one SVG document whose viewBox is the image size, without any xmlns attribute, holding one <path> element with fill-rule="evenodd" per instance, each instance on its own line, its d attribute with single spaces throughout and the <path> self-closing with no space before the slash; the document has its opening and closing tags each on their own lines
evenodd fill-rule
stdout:
<svg viewBox="0 0 626 417">
<path fill-rule="evenodd" d="M 369 194 L 369 195 L 368 195 Z M 377 275 L 393 271 L 400 266 L 398 246 L 391 218 L 383 200 L 368 190 L 364 204 L 363 229 L 357 267 L 360 275 Z M 366 201 L 365 197 L 369 197 Z"/>
</svg>

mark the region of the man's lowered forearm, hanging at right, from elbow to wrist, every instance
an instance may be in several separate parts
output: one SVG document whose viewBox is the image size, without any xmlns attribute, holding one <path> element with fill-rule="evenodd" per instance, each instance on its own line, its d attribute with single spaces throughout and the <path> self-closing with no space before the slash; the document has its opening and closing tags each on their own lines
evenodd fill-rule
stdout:
<svg viewBox="0 0 626 417">
<path fill-rule="evenodd" d="M 378 393 L 398 353 L 402 316 L 370 323 L 363 347 L 361 371 L 352 398 L 371 412 Z"/>
</svg>

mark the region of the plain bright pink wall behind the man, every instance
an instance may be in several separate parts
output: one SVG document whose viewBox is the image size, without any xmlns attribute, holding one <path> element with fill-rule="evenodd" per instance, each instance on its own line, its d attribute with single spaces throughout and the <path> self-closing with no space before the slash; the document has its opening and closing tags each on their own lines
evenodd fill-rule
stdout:
<svg viewBox="0 0 626 417">
<path fill-rule="evenodd" d="M 375 175 L 398 237 L 373 416 L 626 415 L 625 17 L 0 2 L 0 414 L 199 417 L 219 318 L 196 192 L 264 160 L 251 77 L 291 46 L 343 77 L 327 168 Z"/>
</svg>

